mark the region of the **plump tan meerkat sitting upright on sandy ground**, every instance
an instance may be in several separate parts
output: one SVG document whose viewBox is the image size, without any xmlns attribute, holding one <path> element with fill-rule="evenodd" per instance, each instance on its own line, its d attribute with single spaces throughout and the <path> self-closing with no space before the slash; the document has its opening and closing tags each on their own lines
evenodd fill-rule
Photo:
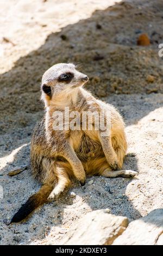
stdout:
<svg viewBox="0 0 163 256">
<path fill-rule="evenodd" d="M 30 150 L 32 173 L 42 187 L 21 206 L 11 223 L 22 221 L 48 199 L 59 196 L 70 185 L 72 177 L 83 186 L 86 175 L 108 178 L 136 175 L 133 170 L 122 170 L 127 141 L 120 113 L 83 88 L 88 80 L 70 63 L 56 64 L 43 74 L 41 99 L 46 113 L 35 127 Z M 92 130 L 53 129 L 53 113 L 64 114 L 65 107 L 80 114 L 84 111 L 109 113 L 109 132 L 103 136 L 101 129 L 95 129 L 95 118 L 92 118 Z"/>
</svg>

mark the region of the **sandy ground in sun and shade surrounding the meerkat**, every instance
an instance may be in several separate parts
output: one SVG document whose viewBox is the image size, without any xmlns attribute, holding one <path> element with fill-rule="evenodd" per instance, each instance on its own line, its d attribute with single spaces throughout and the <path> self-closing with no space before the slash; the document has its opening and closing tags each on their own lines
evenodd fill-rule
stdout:
<svg viewBox="0 0 163 256">
<path fill-rule="evenodd" d="M 135 220 L 163 207 L 163 57 L 158 56 L 163 3 L 138 0 L 108 7 L 113 3 L 0 3 L 2 245 L 59 244 L 80 217 L 96 209 L 109 208 L 112 214 Z M 150 46 L 136 45 L 140 33 L 148 34 Z M 8 226 L 7 220 L 39 189 L 30 167 L 12 177 L 8 172 L 29 164 L 30 136 L 43 115 L 41 76 L 58 62 L 82 63 L 80 70 L 90 77 L 87 89 L 120 110 L 127 125 L 128 153 L 134 153 L 126 157 L 124 168 L 138 174 L 132 180 L 88 177 L 84 187 L 74 181 L 26 222 Z M 70 197 L 71 191 L 76 197 Z"/>
</svg>

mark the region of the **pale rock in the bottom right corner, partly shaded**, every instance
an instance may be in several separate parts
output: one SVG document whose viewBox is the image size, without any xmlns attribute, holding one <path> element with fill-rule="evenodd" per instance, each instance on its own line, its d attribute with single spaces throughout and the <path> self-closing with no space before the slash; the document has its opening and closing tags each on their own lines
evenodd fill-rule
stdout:
<svg viewBox="0 0 163 256">
<path fill-rule="evenodd" d="M 124 233 L 112 245 L 163 245 L 163 209 L 130 222 Z"/>
</svg>

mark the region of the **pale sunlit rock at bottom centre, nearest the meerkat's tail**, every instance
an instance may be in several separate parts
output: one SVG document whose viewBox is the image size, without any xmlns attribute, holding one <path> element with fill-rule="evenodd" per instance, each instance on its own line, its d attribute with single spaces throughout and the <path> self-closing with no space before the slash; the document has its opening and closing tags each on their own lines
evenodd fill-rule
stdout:
<svg viewBox="0 0 163 256">
<path fill-rule="evenodd" d="M 89 212 L 67 232 L 61 245 L 111 245 L 128 226 L 128 218 L 105 210 Z"/>
</svg>

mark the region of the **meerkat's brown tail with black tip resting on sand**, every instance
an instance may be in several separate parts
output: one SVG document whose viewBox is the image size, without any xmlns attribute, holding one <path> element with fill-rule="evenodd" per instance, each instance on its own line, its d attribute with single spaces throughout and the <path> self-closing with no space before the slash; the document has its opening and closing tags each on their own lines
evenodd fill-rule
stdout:
<svg viewBox="0 0 163 256">
<path fill-rule="evenodd" d="M 38 206 L 45 203 L 49 194 L 52 192 L 53 187 L 54 184 L 43 185 L 36 194 L 33 194 L 33 196 L 29 197 L 27 202 L 21 206 L 18 212 L 16 212 L 16 214 L 12 217 L 10 223 L 22 221 Z"/>
</svg>

